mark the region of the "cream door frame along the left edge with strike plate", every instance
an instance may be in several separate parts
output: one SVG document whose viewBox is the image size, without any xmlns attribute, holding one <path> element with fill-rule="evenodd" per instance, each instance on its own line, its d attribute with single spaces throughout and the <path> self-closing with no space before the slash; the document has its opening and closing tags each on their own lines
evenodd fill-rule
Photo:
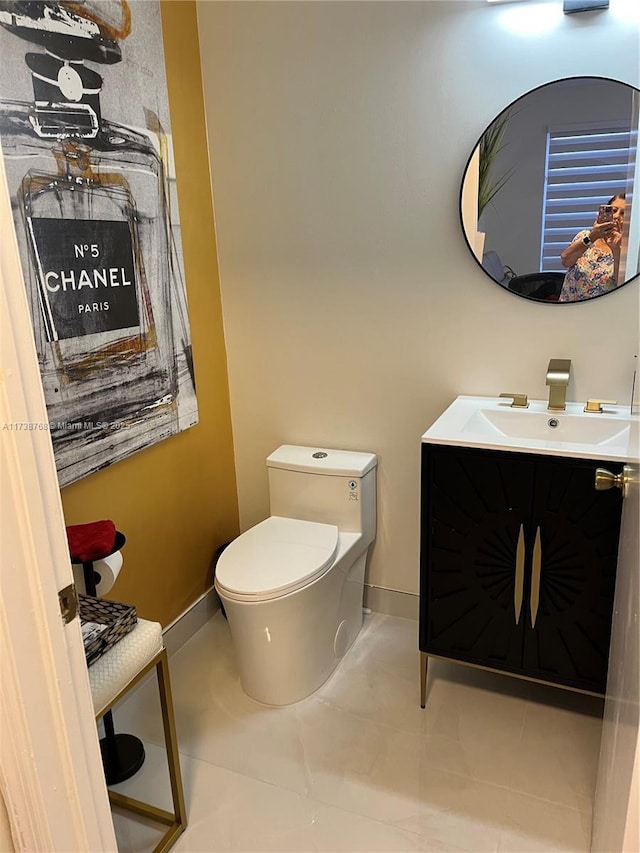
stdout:
<svg viewBox="0 0 640 853">
<path fill-rule="evenodd" d="M 16 850 L 116 851 L 1 149 L 0 234 L 0 797 Z"/>
</svg>

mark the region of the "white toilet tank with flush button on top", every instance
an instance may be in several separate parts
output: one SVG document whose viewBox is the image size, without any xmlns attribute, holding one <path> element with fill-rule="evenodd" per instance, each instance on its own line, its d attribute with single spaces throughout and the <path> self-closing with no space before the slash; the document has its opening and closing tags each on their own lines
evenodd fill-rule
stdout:
<svg viewBox="0 0 640 853">
<path fill-rule="evenodd" d="M 362 533 L 376 530 L 374 453 L 285 444 L 267 457 L 271 515 L 335 524 Z"/>
</svg>

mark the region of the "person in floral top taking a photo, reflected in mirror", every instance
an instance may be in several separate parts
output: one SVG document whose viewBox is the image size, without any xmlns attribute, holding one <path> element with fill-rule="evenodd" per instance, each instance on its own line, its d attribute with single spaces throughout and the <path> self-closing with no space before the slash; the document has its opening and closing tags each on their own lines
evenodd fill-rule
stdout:
<svg viewBox="0 0 640 853">
<path fill-rule="evenodd" d="M 560 302 L 591 299 L 616 287 L 625 205 L 624 193 L 600 205 L 593 226 L 576 234 L 560 255 L 567 270 Z"/>
</svg>

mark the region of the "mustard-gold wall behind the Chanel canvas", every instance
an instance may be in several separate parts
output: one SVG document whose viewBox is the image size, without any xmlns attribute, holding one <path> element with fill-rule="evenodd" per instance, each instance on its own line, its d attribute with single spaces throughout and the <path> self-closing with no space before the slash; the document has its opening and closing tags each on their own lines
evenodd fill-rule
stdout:
<svg viewBox="0 0 640 853">
<path fill-rule="evenodd" d="M 162 4 L 165 57 L 200 423 L 62 491 L 65 521 L 112 519 L 127 537 L 107 596 L 167 625 L 211 585 L 238 532 L 195 5 Z"/>
</svg>

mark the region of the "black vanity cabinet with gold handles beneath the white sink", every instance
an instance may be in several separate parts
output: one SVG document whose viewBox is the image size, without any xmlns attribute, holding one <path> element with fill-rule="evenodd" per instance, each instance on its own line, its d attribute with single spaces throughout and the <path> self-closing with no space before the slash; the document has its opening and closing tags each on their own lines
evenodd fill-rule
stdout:
<svg viewBox="0 0 640 853">
<path fill-rule="evenodd" d="M 422 445 L 421 652 L 604 692 L 622 495 L 597 467 L 623 466 Z"/>
</svg>

